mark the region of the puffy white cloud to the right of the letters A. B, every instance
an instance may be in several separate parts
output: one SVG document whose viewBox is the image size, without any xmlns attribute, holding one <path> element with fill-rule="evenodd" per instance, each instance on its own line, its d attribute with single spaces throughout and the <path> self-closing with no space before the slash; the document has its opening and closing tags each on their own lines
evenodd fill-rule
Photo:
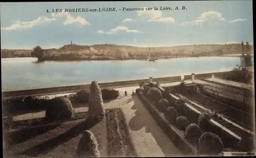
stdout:
<svg viewBox="0 0 256 158">
<path fill-rule="evenodd" d="M 180 24 L 180 26 L 186 26 L 186 25 L 191 25 L 191 26 L 198 26 L 202 25 L 203 22 L 207 20 L 225 20 L 224 17 L 222 17 L 222 14 L 216 11 L 207 11 L 203 12 L 201 16 L 199 16 L 196 20 L 193 21 L 186 21 Z"/>
</svg>

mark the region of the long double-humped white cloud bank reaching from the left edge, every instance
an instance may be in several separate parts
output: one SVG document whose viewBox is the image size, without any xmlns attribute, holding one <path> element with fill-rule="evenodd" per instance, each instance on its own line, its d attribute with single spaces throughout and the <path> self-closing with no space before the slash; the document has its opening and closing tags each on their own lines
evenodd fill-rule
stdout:
<svg viewBox="0 0 256 158">
<path fill-rule="evenodd" d="M 9 27 L 1 28 L 1 30 L 12 31 L 17 29 L 33 28 L 35 26 L 46 24 L 59 18 L 65 19 L 65 21 L 63 22 L 63 25 L 73 24 L 75 22 L 78 22 L 81 25 L 90 25 L 89 22 L 86 19 L 82 18 L 81 16 L 78 16 L 75 18 L 71 16 L 68 12 L 52 13 L 51 15 L 52 15 L 52 18 L 48 18 L 46 16 L 39 16 L 35 20 L 26 21 L 26 22 L 15 20 L 14 24 L 12 24 Z"/>
</svg>

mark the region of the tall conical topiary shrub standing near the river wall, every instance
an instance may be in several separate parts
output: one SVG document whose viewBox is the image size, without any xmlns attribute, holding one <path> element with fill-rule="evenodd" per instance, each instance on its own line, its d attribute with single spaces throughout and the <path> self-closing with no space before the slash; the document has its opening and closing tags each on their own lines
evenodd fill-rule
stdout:
<svg viewBox="0 0 256 158">
<path fill-rule="evenodd" d="M 89 95 L 89 109 L 90 118 L 101 120 L 105 117 L 105 109 L 102 100 L 100 87 L 96 81 L 92 81 Z"/>
</svg>

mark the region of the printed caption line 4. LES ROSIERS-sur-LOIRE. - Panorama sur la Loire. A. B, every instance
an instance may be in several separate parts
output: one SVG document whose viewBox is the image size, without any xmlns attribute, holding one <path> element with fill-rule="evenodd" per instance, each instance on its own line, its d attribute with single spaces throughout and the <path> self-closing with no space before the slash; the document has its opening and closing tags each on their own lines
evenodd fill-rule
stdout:
<svg viewBox="0 0 256 158">
<path fill-rule="evenodd" d="M 185 6 L 181 7 L 147 7 L 147 8 L 125 8 L 122 9 L 109 8 L 66 8 L 66 9 L 47 9 L 46 12 L 61 13 L 61 12 L 117 12 L 117 11 L 145 11 L 145 10 L 187 10 Z"/>
</svg>

